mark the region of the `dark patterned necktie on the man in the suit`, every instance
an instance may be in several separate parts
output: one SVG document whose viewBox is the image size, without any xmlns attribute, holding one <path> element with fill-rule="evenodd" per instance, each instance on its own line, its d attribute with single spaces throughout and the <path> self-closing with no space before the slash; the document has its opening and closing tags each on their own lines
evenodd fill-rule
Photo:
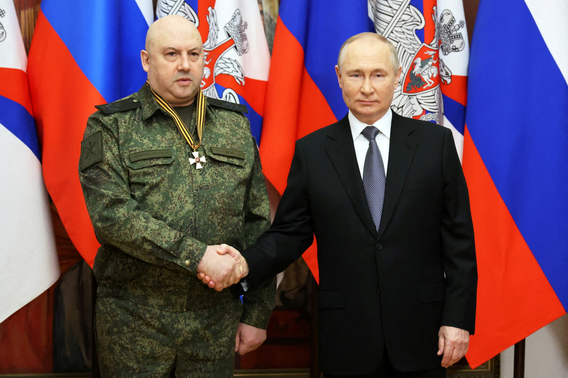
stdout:
<svg viewBox="0 0 568 378">
<path fill-rule="evenodd" d="M 379 231 L 379 224 L 381 224 L 386 182 L 385 164 L 383 164 L 381 151 L 379 151 L 379 146 L 375 141 L 378 133 L 379 129 L 375 126 L 367 126 L 361 131 L 361 134 L 369 139 L 369 149 L 367 155 L 365 155 L 365 165 L 363 166 L 363 186 L 365 186 L 367 204 L 377 231 Z"/>
</svg>

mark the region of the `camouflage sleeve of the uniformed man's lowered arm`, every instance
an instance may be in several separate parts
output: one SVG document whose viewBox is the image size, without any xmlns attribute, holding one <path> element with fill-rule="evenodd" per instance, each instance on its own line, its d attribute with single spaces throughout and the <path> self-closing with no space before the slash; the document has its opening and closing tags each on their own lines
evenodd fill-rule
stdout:
<svg viewBox="0 0 568 378">
<path fill-rule="evenodd" d="M 252 139 L 252 138 L 251 138 Z M 254 141 L 254 139 L 252 139 Z M 256 142 L 252 142 L 256 151 Z M 255 152 L 254 165 L 251 180 L 245 196 L 245 223 L 244 223 L 244 243 L 247 248 L 258 239 L 258 236 L 270 227 L 270 205 L 268 193 L 266 192 L 266 182 L 262 175 L 260 157 Z M 276 297 L 276 277 L 266 277 L 256 287 L 251 288 L 243 296 L 244 311 L 240 322 L 256 328 L 266 329 L 270 314 L 274 308 Z"/>
</svg>

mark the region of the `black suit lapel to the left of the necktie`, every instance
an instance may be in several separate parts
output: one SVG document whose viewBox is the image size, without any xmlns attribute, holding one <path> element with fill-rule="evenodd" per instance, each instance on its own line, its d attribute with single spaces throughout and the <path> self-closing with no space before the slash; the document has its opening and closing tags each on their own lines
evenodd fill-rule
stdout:
<svg viewBox="0 0 568 378">
<path fill-rule="evenodd" d="M 332 128 L 329 128 L 327 145 L 325 151 L 335 168 L 337 175 L 345 188 L 345 192 L 353 203 L 357 214 L 365 226 L 373 235 L 377 235 L 375 224 L 369 205 L 367 205 L 367 197 L 365 196 L 365 188 L 361 180 L 359 165 L 353 147 L 353 136 L 349 127 L 348 117 L 345 116 L 337 122 Z"/>
</svg>

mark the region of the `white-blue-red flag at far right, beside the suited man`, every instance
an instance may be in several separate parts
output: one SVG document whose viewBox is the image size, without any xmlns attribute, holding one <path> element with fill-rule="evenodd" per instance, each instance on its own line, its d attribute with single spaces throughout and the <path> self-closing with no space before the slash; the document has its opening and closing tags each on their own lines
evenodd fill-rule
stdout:
<svg viewBox="0 0 568 378">
<path fill-rule="evenodd" d="M 568 308 L 568 3 L 481 0 L 463 169 L 478 254 L 478 366 Z"/>
</svg>

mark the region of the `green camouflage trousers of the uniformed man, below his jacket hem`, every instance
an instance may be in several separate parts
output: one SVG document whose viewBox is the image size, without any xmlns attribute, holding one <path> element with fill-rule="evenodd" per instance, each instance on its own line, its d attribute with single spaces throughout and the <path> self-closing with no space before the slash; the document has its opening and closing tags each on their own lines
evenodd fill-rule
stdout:
<svg viewBox="0 0 568 378">
<path fill-rule="evenodd" d="M 170 312 L 99 297 L 95 331 L 102 377 L 232 377 L 237 305 L 195 310 Z"/>
</svg>

